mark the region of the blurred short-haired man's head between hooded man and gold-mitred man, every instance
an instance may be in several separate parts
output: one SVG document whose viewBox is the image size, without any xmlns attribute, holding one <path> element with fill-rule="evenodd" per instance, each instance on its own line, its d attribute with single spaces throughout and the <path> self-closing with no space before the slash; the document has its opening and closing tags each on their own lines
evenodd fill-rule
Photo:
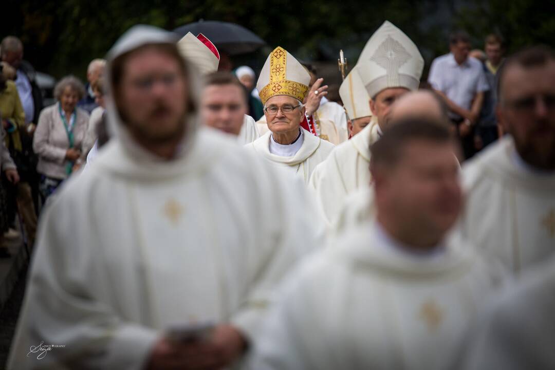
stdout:
<svg viewBox="0 0 555 370">
<path fill-rule="evenodd" d="M 217 72 L 206 77 L 201 100 L 206 125 L 239 135 L 248 111 L 245 87 L 228 72 Z"/>
</svg>

